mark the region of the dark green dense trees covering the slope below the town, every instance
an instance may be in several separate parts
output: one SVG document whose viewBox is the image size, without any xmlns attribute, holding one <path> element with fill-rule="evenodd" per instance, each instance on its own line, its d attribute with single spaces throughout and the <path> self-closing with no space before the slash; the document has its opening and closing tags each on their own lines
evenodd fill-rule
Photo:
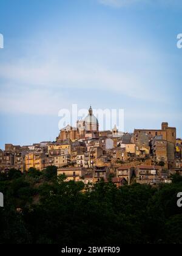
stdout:
<svg viewBox="0 0 182 256">
<path fill-rule="evenodd" d="M 56 179 L 56 168 L 0 174 L 0 243 L 144 244 L 182 243 L 182 178 L 158 187 L 116 188 Z"/>
</svg>

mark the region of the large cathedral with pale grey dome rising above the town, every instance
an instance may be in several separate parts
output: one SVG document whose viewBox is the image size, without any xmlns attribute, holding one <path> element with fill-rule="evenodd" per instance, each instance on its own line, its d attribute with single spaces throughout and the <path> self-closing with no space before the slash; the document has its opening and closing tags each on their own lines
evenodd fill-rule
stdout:
<svg viewBox="0 0 182 256">
<path fill-rule="evenodd" d="M 92 107 L 89 108 L 89 113 L 83 120 L 76 122 L 76 127 L 67 125 L 60 130 L 59 136 L 56 138 L 57 142 L 64 140 L 78 140 L 84 137 L 98 137 L 99 135 L 99 124 L 98 119 L 93 115 Z"/>
</svg>

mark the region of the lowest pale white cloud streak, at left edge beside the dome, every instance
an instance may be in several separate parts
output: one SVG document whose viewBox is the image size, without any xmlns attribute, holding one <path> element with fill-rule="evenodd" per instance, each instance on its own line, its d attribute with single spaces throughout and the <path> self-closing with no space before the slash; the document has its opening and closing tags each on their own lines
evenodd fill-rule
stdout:
<svg viewBox="0 0 182 256">
<path fill-rule="evenodd" d="M 17 93 L 5 91 L 0 96 L 1 112 L 30 115 L 58 115 L 59 108 L 69 107 L 69 101 L 62 94 L 50 94 L 44 90 L 20 90 Z"/>
</svg>

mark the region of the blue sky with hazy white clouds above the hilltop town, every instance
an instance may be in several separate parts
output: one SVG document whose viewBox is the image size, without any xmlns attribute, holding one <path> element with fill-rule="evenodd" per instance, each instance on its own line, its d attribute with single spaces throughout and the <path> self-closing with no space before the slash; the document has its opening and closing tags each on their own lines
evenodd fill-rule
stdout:
<svg viewBox="0 0 182 256">
<path fill-rule="evenodd" d="M 1 0 L 0 148 L 55 140 L 62 108 L 182 137 L 180 0 Z"/>
</svg>

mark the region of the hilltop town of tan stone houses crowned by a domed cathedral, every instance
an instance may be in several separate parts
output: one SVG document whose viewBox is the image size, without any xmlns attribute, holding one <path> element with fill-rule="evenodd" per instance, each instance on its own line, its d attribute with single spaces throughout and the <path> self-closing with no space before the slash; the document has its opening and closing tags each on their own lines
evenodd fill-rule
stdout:
<svg viewBox="0 0 182 256">
<path fill-rule="evenodd" d="M 117 186 L 125 183 L 170 183 L 172 174 L 182 175 L 182 140 L 175 127 L 162 123 L 161 129 L 135 129 L 133 133 L 99 131 L 92 107 L 76 127 L 67 125 L 55 141 L 32 146 L 5 144 L 0 149 L 0 171 L 22 172 L 56 166 L 58 175 L 85 184 L 112 177 Z"/>
</svg>

